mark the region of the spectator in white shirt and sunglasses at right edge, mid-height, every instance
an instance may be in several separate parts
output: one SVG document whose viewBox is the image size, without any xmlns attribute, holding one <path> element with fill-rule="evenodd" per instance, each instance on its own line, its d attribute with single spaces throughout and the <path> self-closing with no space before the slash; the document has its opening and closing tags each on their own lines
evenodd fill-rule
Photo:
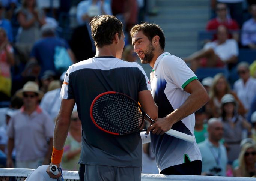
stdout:
<svg viewBox="0 0 256 181">
<path fill-rule="evenodd" d="M 256 96 L 256 79 L 250 76 L 249 64 L 241 62 L 237 65 L 237 72 L 240 77 L 234 84 L 234 91 L 244 108 L 250 109 L 253 98 Z"/>
</svg>

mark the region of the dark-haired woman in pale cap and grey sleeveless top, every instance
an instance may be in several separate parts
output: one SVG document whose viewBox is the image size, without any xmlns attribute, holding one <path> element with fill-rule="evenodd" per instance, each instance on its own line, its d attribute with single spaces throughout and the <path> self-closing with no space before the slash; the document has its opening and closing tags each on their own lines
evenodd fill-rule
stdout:
<svg viewBox="0 0 256 181">
<path fill-rule="evenodd" d="M 251 134 L 251 124 L 238 114 L 238 103 L 232 94 L 226 94 L 221 99 L 221 120 L 224 128 L 224 141 L 227 148 L 229 163 L 237 159 L 241 140 Z M 247 131 L 248 135 L 243 135 Z"/>
</svg>

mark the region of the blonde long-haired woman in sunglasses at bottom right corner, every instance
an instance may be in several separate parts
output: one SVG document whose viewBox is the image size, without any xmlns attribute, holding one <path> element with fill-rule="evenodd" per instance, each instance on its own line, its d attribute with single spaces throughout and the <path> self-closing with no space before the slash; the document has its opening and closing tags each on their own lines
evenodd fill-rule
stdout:
<svg viewBox="0 0 256 181">
<path fill-rule="evenodd" d="M 256 174 L 256 145 L 246 143 L 242 146 L 239 154 L 239 166 L 235 168 L 235 177 L 253 177 Z"/>
</svg>

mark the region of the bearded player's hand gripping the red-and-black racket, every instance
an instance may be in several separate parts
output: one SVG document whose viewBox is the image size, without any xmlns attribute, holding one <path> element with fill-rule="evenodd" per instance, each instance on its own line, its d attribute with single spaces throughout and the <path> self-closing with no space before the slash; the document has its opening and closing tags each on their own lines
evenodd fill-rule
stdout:
<svg viewBox="0 0 256 181">
<path fill-rule="evenodd" d="M 172 121 L 169 118 L 158 118 L 155 120 L 155 123 L 148 127 L 147 134 L 152 131 L 153 134 L 163 135 L 165 132 L 169 131 L 172 128 Z"/>
</svg>

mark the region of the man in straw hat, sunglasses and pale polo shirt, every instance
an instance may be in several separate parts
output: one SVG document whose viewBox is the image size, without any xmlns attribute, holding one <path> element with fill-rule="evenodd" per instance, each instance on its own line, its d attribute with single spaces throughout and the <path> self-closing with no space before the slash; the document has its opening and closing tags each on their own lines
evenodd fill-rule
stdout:
<svg viewBox="0 0 256 181">
<path fill-rule="evenodd" d="M 17 168 L 37 168 L 49 164 L 53 147 L 54 124 L 38 105 L 43 93 L 36 82 L 29 81 L 16 92 L 23 106 L 13 115 L 8 128 L 7 167 L 14 167 L 12 150 L 16 150 Z M 47 141 L 48 139 L 48 141 Z"/>
</svg>

